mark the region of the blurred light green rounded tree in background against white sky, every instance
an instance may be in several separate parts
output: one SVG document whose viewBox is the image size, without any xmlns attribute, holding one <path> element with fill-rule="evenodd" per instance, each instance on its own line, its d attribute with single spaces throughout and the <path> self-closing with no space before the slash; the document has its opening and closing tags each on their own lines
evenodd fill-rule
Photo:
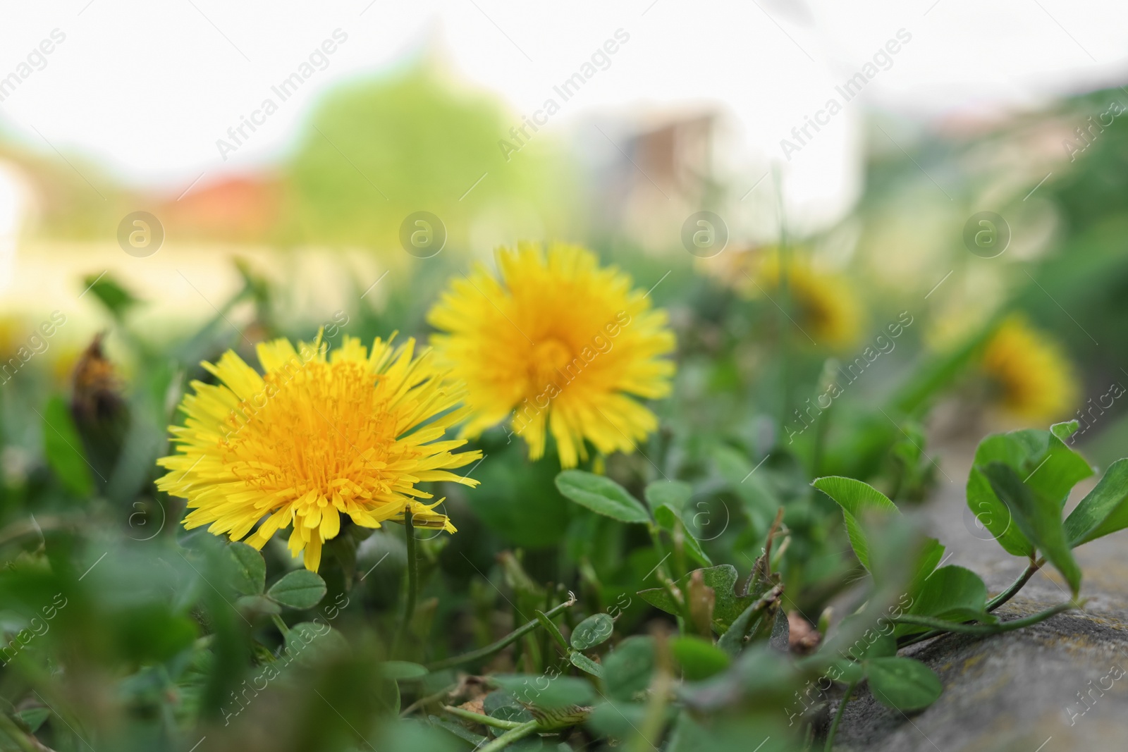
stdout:
<svg viewBox="0 0 1128 752">
<path fill-rule="evenodd" d="M 294 240 L 398 251 L 404 218 L 425 210 L 446 224 L 449 245 L 465 247 L 473 220 L 504 207 L 511 224 L 566 236 L 571 170 L 546 134 L 506 159 L 497 142 L 519 122 L 495 100 L 455 89 L 429 63 L 340 87 L 319 104 L 292 158 L 296 211 L 287 231 Z"/>
</svg>

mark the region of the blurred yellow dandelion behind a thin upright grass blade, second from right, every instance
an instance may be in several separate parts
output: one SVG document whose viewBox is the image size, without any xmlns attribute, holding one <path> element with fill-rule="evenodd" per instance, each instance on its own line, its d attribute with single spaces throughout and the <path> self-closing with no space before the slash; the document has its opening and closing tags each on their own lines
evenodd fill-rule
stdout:
<svg viewBox="0 0 1128 752">
<path fill-rule="evenodd" d="M 778 291 L 779 276 L 779 255 L 769 254 L 757 271 L 752 293 L 760 289 L 769 294 Z M 797 309 L 795 322 L 817 344 L 844 347 L 857 340 L 861 307 L 844 277 L 819 271 L 792 254 L 787 262 L 787 292 Z"/>
</svg>

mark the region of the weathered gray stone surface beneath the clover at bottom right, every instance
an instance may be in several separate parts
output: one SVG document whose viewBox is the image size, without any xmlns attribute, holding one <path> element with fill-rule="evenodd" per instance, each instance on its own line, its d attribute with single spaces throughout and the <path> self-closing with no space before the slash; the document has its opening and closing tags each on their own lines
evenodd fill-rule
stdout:
<svg viewBox="0 0 1128 752">
<path fill-rule="evenodd" d="M 918 514 L 948 547 L 951 557 L 945 564 L 975 570 L 988 591 L 997 593 L 1025 563 L 994 540 L 977 537 L 982 533 L 964 516 L 969 454 L 937 461 L 948 477 L 940 476 L 934 498 Z M 1078 487 L 1070 505 L 1091 486 Z M 908 648 L 902 655 L 926 662 L 940 675 L 943 696 L 926 710 L 906 716 L 861 689 L 846 707 L 835 749 L 1128 750 L 1128 531 L 1087 543 L 1075 555 L 1084 570 L 1082 598 L 1089 599 L 1084 611 L 994 637 L 949 635 Z M 1014 619 L 1066 600 L 1068 589 L 1050 568 L 1034 575 L 997 613 Z"/>
</svg>

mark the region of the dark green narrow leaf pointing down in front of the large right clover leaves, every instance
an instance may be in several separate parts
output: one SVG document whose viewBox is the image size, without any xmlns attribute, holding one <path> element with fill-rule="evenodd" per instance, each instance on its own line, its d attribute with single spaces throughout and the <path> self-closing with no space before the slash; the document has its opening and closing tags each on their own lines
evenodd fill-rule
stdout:
<svg viewBox="0 0 1128 752">
<path fill-rule="evenodd" d="M 1002 462 L 992 462 L 984 468 L 984 474 L 992 489 L 1006 504 L 1014 524 L 1061 573 L 1076 596 L 1081 590 L 1081 567 L 1066 541 L 1061 507 L 1057 501 L 1025 485 L 1014 470 Z"/>
</svg>

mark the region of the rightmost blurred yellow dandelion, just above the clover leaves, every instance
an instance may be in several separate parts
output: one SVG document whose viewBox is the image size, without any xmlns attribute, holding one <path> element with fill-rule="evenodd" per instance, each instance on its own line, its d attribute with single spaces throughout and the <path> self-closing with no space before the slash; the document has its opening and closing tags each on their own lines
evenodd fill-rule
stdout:
<svg viewBox="0 0 1128 752">
<path fill-rule="evenodd" d="M 1045 334 L 1017 317 L 1006 319 L 988 340 L 982 369 L 1007 412 L 1032 423 L 1067 414 L 1077 384 L 1069 359 Z"/>
</svg>

